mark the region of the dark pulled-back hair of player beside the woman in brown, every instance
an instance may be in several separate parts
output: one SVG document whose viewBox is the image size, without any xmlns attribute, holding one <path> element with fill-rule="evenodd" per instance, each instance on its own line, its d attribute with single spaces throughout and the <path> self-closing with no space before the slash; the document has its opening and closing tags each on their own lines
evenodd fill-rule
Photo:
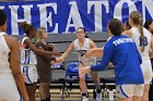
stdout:
<svg viewBox="0 0 153 101">
<path fill-rule="evenodd" d="M 27 24 L 26 22 L 22 22 L 20 23 L 20 25 L 22 26 L 24 33 L 28 36 L 31 30 L 34 30 L 34 26 Z"/>
</svg>

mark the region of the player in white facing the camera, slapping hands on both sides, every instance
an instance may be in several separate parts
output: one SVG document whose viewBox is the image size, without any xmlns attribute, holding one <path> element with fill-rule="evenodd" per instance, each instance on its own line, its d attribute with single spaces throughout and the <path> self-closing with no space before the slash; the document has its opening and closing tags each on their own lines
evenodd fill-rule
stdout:
<svg viewBox="0 0 153 101">
<path fill-rule="evenodd" d="M 85 38 L 85 29 L 83 27 L 79 27 L 76 29 L 76 39 L 71 42 L 67 51 L 59 58 L 61 61 L 64 60 L 70 52 L 75 49 L 76 53 L 79 54 L 79 74 L 80 74 L 80 67 L 81 65 L 94 65 L 96 64 L 95 58 L 89 58 L 86 60 L 83 60 L 82 56 L 86 53 L 89 49 L 96 48 L 96 45 L 89 38 Z M 101 94 L 101 86 L 99 86 L 99 79 L 97 77 L 96 72 L 91 72 L 92 78 L 95 83 L 96 87 L 96 101 L 102 101 L 102 94 Z M 85 84 L 85 77 L 80 77 L 80 89 L 82 92 L 83 101 L 89 101 L 87 99 L 87 92 L 86 92 L 86 84 Z"/>
</svg>

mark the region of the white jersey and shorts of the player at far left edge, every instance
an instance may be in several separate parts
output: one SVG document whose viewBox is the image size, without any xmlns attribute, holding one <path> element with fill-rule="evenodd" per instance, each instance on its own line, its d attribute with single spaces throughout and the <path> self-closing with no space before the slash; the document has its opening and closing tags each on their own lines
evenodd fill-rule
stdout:
<svg viewBox="0 0 153 101">
<path fill-rule="evenodd" d="M 10 49 L 0 33 L 0 101 L 20 101 L 20 94 L 9 63 Z"/>
</svg>

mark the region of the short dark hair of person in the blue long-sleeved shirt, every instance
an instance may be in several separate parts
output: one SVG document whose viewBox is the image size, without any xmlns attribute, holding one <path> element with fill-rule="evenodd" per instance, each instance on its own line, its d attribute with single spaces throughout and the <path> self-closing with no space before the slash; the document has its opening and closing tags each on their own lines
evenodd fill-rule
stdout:
<svg viewBox="0 0 153 101">
<path fill-rule="evenodd" d="M 108 23 L 108 28 L 113 35 L 118 36 L 122 33 L 122 24 L 118 18 L 111 18 Z"/>
</svg>

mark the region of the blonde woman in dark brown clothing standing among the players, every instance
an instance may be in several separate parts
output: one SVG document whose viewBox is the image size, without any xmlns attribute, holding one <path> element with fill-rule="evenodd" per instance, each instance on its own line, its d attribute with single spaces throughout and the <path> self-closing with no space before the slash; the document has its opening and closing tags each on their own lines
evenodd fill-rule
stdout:
<svg viewBox="0 0 153 101">
<path fill-rule="evenodd" d="M 48 35 L 46 34 L 46 28 L 40 27 L 37 29 L 36 36 L 36 48 L 49 51 L 49 46 L 46 42 Z M 57 54 L 58 55 L 58 54 Z M 50 81 L 51 81 L 51 63 L 50 61 L 56 61 L 55 56 L 42 56 L 37 54 L 37 71 L 39 77 L 39 96 L 40 101 L 50 101 Z"/>
</svg>

